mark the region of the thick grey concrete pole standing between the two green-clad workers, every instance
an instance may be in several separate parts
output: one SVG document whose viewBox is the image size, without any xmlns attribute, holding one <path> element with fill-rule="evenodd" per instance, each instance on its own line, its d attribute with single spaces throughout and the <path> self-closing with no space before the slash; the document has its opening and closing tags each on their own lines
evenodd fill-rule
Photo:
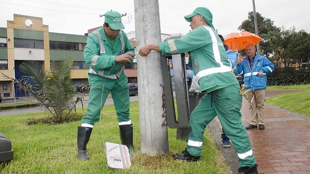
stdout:
<svg viewBox="0 0 310 174">
<path fill-rule="evenodd" d="M 158 0 L 134 0 L 137 51 L 161 42 Z M 161 53 L 137 55 L 141 153 L 169 155 Z"/>
</svg>

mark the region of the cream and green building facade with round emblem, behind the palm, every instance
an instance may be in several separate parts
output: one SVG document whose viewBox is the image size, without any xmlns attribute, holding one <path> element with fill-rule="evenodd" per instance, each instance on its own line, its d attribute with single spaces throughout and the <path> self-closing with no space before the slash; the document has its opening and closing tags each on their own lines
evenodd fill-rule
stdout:
<svg viewBox="0 0 310 174">
<path fill-rule="evenodd" d="M 94 29 L 89 29 L 88 33 Z M 84 35 L 53 33 L 43 24 L 40 17 L 14 14 L 13 21 L 7 21 L 7 28 L 0 28 L 0 92 L 3 99 L 23 97 L 27 94 L 13 85 L 12 78 L 27 75 L 19 70 L 25 60 L 42 63 L 49 70 L 53 61 L 71 58 L 72 86 L 88 85 L 89 66 L 85 64 L 83 51 L 88 33 Z M 132 41 L 136 46 L 135 41 Z M 129 82 L 137 82 L 137 60 L 125 66 Z"/>
</svg>

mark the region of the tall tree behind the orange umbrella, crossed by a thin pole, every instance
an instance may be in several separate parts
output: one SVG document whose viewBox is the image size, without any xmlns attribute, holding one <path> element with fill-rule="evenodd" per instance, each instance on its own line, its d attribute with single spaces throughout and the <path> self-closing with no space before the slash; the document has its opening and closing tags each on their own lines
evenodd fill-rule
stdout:
<svg viewBox="0 0 310 174">
<path fill-rule="evenodd" d="M 268 33 L 269 31 L 279 31 L 279 28 L 274 26 L 274 21 L 270 18 L 263 17 L 260 13 L 256 12 L 257 18 L 257 26 L 258 26 L 258 35 L 262 37 L 263 34 Z M 242 24 L 238 27 L 240 31 L 248 31 L 251 33 L 255 33 L 255 24 L 254 24 L 254 13 L 248 12 L 248 19 L 243 21 Z M 266 42 L 263 38 L 263 41 L 260 42 L 261 51 L 263 50 L 263 54 L 270 54 L 273 52 L 270 49 L 268 42 Z M 242 55 L 246 55 L 245 51 L 242 51 Z M 268 55 L 265 55 L 268 58 Z"/>
</svg>

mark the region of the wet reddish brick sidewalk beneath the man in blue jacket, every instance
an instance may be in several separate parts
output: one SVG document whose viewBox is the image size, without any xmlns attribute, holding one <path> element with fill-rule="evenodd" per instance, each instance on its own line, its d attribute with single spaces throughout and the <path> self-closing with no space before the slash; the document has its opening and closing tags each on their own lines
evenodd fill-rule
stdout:
<svg viewBox="0 0 310 174">
<path fill-rule="evenodd" d="M 292 90 L 267 90 L 265 98 Z M 249 124 L 248 101 L 243 98 L 244 126 Z M 310 174 L 310 116 L 303 116 L 265 103 L 265 130 L 247 130 L 260 174 Z M 237 173 L 239 162 L 231 146 L 223 148 L 221 125 L 216 117 L 209 124 L 223 156 Z"/>
</svg>

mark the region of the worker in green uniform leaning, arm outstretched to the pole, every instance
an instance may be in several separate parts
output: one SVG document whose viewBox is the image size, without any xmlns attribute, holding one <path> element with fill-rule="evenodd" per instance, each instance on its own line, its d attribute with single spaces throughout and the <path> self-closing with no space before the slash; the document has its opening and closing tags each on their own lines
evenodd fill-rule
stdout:
<svg viewBox="0 0 310 174">
<path fill-rule="evenodd" d="M 202 156 L 202 137 L 206 126 L 218 116 L 223 129 L 237 152 L 240 162 L 239 174 L 257 174 L 248 133 L 241 121 L 242 96 L 239 83 L 230 67 L 225 48 L 212 24 L 212 13 L 208 8 L 198 7 L 185 16 L 190 22 L 191 32 L 180 39 L 158 44 L 146 44 L 139 50 L 147 56 L 152 50 L 166 54 L 191 52 L 199 92 L 204 95 L 190 116 L 190 134 L 187 148 L 174 159 L 197 161 Z M 193 84 L 193 83 L 192 83 Z"/>
</svg>

